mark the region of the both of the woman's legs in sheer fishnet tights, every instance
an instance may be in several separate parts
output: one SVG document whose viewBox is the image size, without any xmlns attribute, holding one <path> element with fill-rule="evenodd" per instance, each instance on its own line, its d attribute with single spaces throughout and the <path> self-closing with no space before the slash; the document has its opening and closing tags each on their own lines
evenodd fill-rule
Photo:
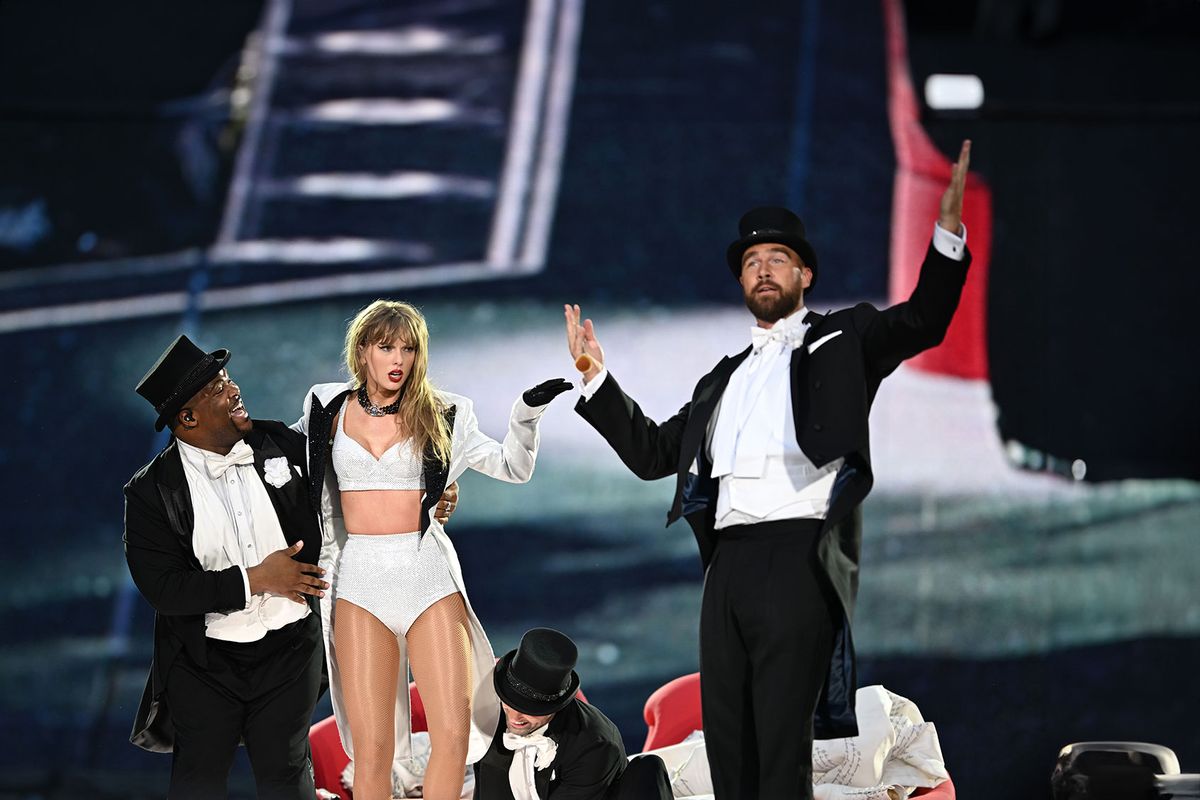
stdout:
<svg viewBox="0 0 1200 800">
<path fill-rule="evenodd" d="M 406 640 L 430 729 L 424 796 L 455 800 L 462 794 L 467 766 L 474 685 L 462 595 L 443 597 L 426 608 L 408 628 Z M 400 679 L 396 636 L 370 612 L 338 600 L 334 646 L 354 741 L 354 800 L 390 800 Z"/>
</svg>

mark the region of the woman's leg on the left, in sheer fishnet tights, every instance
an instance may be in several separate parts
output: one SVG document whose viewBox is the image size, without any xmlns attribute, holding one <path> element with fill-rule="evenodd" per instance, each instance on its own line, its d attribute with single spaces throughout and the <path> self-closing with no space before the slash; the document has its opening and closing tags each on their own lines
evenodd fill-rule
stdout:
<svg viewBox="0 0 1200 800">
<path fill-rule="evenodd" d="M 346 600 L 334 613 L 334 646 L 354 742 L 354 800 L 391 800 L 396 751 L 396 634 Z"/>
</svg>

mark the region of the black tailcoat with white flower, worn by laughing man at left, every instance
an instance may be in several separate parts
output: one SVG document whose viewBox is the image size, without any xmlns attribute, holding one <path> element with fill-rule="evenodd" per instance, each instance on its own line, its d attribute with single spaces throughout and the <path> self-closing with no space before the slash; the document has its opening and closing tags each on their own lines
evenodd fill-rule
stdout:
<svg viewBox="0 0 1200 800">
<path fill-rule="evenodd" d="M 256 420 L 245 441 L 254 451 L 254 471 L 284 539 L 289 546 L 304 540 L 295 560 L 316 564 L 320 529 L 308 494 L 304 435 L 282 422 Z M 280 457 L 288 459 L 292 480 L 277 488 L 264 480 L 264 463 Z M 174 745 L 163 690 L 175 658 L 186 652 L 198 666 L 208 666 L 204 615 L 240 610 L 247 600 L 238 567 L 200 566 L 192 551 L 194 519 L 179 446 L 172 439 L 125 487 L 125 559 L 133 583 L 155 609 L 154 657 L 130 741 L 155 752 L 170 752 Z M 314 601 L 308 597 L 316 613 Z"/>
</svg>

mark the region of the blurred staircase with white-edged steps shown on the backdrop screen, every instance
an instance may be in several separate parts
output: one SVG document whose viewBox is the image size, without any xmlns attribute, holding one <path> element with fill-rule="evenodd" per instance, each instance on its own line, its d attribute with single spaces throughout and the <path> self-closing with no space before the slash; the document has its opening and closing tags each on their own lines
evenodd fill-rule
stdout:
<svg viewBox="0 0 1200 800">
<path fill-rule="evenodd" d="M 0 331 L 541 271 L 582 17 L 583 0 L 268 0 L 216 241 L 13 275 L 55 290 Z"/>
</svg>

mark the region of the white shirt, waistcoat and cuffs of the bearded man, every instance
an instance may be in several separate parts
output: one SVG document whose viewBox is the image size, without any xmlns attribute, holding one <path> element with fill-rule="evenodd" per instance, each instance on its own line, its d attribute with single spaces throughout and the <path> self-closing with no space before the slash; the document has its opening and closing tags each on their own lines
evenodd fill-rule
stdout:
<svg viewBox="0 0 1200 800">
<path fill-rule="evenodd" d="M 934 225 L 934 248 L 961 261 L 966 225 L 955 235 Z M 720 481 L 714 528 L 776 519 L 823 519 L 834 480 L 845 459 L 817 468 L 796 441 L 792 417 L 792 350 L 804 339 L 808 308 L 800 306 L 769 329 L 751 329 L 751 350 L 738 365 L 709 419 L 708 455 Z M 607 378 L 600 373 L 580 387 L 587 402 Z M 691 471 L 696 473 L 695 462 Z"/>
</svg>

